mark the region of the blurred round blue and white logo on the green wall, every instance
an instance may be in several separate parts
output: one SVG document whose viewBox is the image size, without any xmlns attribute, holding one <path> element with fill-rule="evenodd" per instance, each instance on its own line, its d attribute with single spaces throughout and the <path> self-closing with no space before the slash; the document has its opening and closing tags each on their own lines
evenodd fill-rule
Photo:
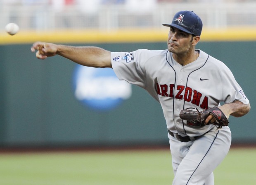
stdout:
<svg viewBox="0 0 256 185">
<path fill-rule="evenodd" d="M 77 65 L 73 74 L 75 97 L 96 111 L 109 111 L 130 98 L 132 87 L 120 81 L 111 68 Z"/>
</svg>

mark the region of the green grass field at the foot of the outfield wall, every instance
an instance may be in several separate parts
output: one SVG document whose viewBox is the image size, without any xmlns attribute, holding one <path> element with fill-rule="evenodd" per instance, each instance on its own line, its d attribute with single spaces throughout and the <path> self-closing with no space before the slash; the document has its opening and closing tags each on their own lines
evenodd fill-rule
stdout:
<svg viewBox="0 0 256 185">
<path fill-rule="evenodd" d="M 216 185 L 256 184 L 256 148 L 230 149 Z M 169 150 L 2 153 L 0 185 L 171 185 Z"/>
</svg>

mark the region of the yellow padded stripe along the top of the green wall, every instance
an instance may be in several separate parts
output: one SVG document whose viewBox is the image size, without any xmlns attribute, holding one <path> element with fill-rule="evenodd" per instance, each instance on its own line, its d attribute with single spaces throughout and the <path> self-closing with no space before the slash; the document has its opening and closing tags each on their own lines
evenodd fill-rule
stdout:
<svg viewBox="0 0 256 185">
<path fill-rule="evenodd" d="M 126 43 L 166 42 L 168 28 L 162 30 L 60 30 L 52 32 L 20 31 L 17 35 L 0 32 L 0 44 L 30 44 L 36 41 L 54 43 Z M 203 30 L 201 42 L 256 41 L 256 28 L 228 28 L 225 30 Z"/>
</svg>

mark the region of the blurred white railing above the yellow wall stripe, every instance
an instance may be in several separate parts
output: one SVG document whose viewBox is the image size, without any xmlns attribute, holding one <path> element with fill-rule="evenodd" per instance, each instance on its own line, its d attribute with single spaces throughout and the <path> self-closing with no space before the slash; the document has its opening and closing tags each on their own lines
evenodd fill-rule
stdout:
<svg viewBox="0 0 256 185">
<path fill-rule="evenodd" d="M 256 26 L 256 2 L 250 3 L 168 3 L 143 11 L 128 5 L 100 5 L 97 11 L 77 6 L 55 10 L 49 5 L 14 6 L 0 4 L 0 29 L 17 23 L 23 30 L 156 28 L 170 23 L 180 10 L 197 13 L 204 28 L 225 29 L 232 26 Z M 242 27 L 241 27 L 242 29 Z"/>
</svg>

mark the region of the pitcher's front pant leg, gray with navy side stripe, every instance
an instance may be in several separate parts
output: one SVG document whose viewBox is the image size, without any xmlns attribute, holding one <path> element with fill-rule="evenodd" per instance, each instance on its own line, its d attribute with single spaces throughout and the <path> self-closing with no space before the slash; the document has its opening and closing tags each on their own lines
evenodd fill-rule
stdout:
<svg viewBox="0 0 256 185">
<path fill-rule="evenodd" d="M 231 132 L 228 127 L 195 140 L 180 162 L 173 184 L 198 185 L 198 182 L 203 182 L 228 154 L 230 144 Z"/>
</svg>

